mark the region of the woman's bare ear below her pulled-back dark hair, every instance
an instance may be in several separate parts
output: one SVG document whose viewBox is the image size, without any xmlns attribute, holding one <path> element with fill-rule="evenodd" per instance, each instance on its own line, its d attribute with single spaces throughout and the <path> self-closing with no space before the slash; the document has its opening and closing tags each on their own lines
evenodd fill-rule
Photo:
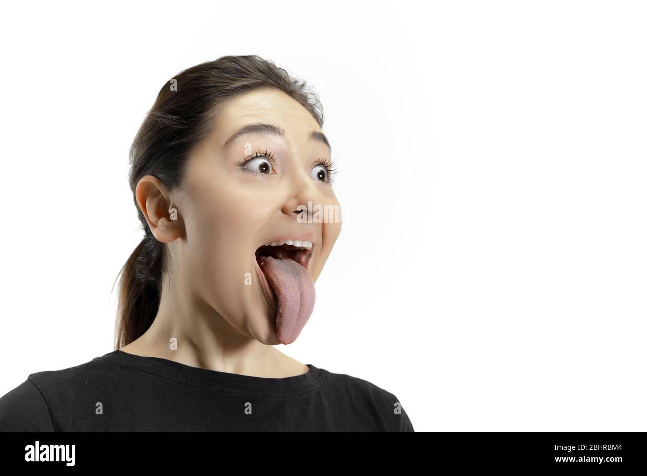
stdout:
<svg viewBox="0 0 647 476">
<path fill-rule="evenodd" d="M 137 183 L 135 198 L 159 242 L 171 243 L 182 236 L 182 220 L 171 206 L 171 196 L 155 176 L 144 176 Z"/>
</svg>

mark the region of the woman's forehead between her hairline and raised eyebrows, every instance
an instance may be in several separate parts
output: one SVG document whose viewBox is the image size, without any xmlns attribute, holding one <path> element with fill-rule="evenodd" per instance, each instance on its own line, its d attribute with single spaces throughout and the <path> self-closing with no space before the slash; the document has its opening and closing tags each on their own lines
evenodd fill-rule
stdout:
<svg viewBox="0 0 647 476">
<path fill-rule="evenodd" d="M 226 101 L 217 115 L 217 130 L 225 136 L 248 124 L 274 124 L 299 135 L 321 132 L 314 117 L 293 98 L 275 88 L 255 89 Z"/>
</svg>

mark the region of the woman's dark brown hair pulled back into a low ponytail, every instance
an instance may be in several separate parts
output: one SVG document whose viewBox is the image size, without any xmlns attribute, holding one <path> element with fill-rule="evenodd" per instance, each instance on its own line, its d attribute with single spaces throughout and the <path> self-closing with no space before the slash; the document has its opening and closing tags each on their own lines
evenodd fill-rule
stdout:
<svg viewBox="0 0 647 476">
<path fill-rule="evenodd" d="M 306 82 L 256 55 L 222 56 L 195 65 L 160 89 L 130 150 L 129 183 L 145 236 L 118 274 L 116 348 L 140 337 L 153 323 L 166 271 L 165 246 L 153 236 L 135 198 L 139 180 L 152 175 L 169 191 L 179 187 L 188 153 L 212 131 L 219 108 L 238 93 L 261 87 L 291 96 L 323 126 L 323 108 Z"/>
</svg>

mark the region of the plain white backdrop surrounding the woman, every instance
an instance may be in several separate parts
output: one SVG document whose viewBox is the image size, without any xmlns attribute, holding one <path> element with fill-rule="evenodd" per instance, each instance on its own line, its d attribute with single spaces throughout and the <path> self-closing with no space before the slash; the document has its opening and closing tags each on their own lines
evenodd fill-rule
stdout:
<svg viewBox="0 0 647 476">
<path fill-rule="evenodd" d="M 4 8 L 0 394 L 113 350 L 131 141 L 174 74 L 259 54 L 320 95 L 344 210 L 283 352 L 416 431 L 647 429 L 644 3 Z"/>
</svg>

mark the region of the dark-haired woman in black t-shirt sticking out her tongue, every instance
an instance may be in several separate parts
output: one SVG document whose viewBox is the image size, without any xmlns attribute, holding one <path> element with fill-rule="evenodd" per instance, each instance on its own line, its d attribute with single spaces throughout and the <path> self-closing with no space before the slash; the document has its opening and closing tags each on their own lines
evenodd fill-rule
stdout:
<svg viewBox="0 0 647 476">
<path fill-rule="evenodd" d="M 131 148 L 146 236 L 116 350 L 31 374 L 0 428 L 413 431 L 393 394 L 274 347 L 307 323 L 341 229 L 313 212 L 339 208 L 322 124 L 305 82 L 255 55 L 164 85 Z"/>
</svg>

